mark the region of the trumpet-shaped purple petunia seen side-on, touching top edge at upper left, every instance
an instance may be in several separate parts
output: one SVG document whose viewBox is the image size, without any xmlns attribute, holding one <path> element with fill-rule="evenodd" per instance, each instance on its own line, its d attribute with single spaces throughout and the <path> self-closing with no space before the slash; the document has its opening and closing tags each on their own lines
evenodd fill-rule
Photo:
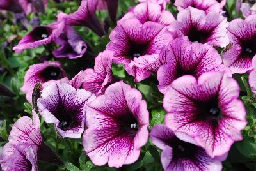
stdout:
<svg viewBox="0 0 256 171">
<path fill-rule="evenodd" d="M 86 26 L 92 29 L 99 36 L 105 34 L 99 19 L 96 17 L 98 1 L 82 0 L 81 5 L 74 13 L 69 15 L 65 13 L 58 14 L 58 21 L 65 20 L 65 23 L 70 26 Z"/>
</svg>

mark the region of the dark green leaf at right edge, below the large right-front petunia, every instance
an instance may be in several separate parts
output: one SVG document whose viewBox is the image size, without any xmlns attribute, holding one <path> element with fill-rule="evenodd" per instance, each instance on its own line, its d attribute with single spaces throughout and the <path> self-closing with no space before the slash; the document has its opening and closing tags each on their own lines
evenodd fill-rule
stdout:
<svg viewBox="0 0 256 171">
<path fill-rule="evenodd" d="M 246 158 L 256 159 L 256 142 L 254 138 L 244 137 L 243 141 L 237 142 L 236 146 Z"/>
</svg>

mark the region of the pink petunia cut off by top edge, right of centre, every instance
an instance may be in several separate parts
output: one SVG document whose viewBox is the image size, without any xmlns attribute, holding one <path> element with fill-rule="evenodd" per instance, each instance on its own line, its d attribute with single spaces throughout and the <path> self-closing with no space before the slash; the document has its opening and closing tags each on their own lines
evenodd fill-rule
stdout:
<svg viewBox="0 0 256 171">
<path fill-rule="evenodd" d="M 216 0 L 176 0 L 174 5 L 177 6 L 179 11 L 186 9 L 189 6 L 198 10 L 203 10 L 205 13 L 220 13 L 222 11 L 221 4 Z"/>
</svg>

